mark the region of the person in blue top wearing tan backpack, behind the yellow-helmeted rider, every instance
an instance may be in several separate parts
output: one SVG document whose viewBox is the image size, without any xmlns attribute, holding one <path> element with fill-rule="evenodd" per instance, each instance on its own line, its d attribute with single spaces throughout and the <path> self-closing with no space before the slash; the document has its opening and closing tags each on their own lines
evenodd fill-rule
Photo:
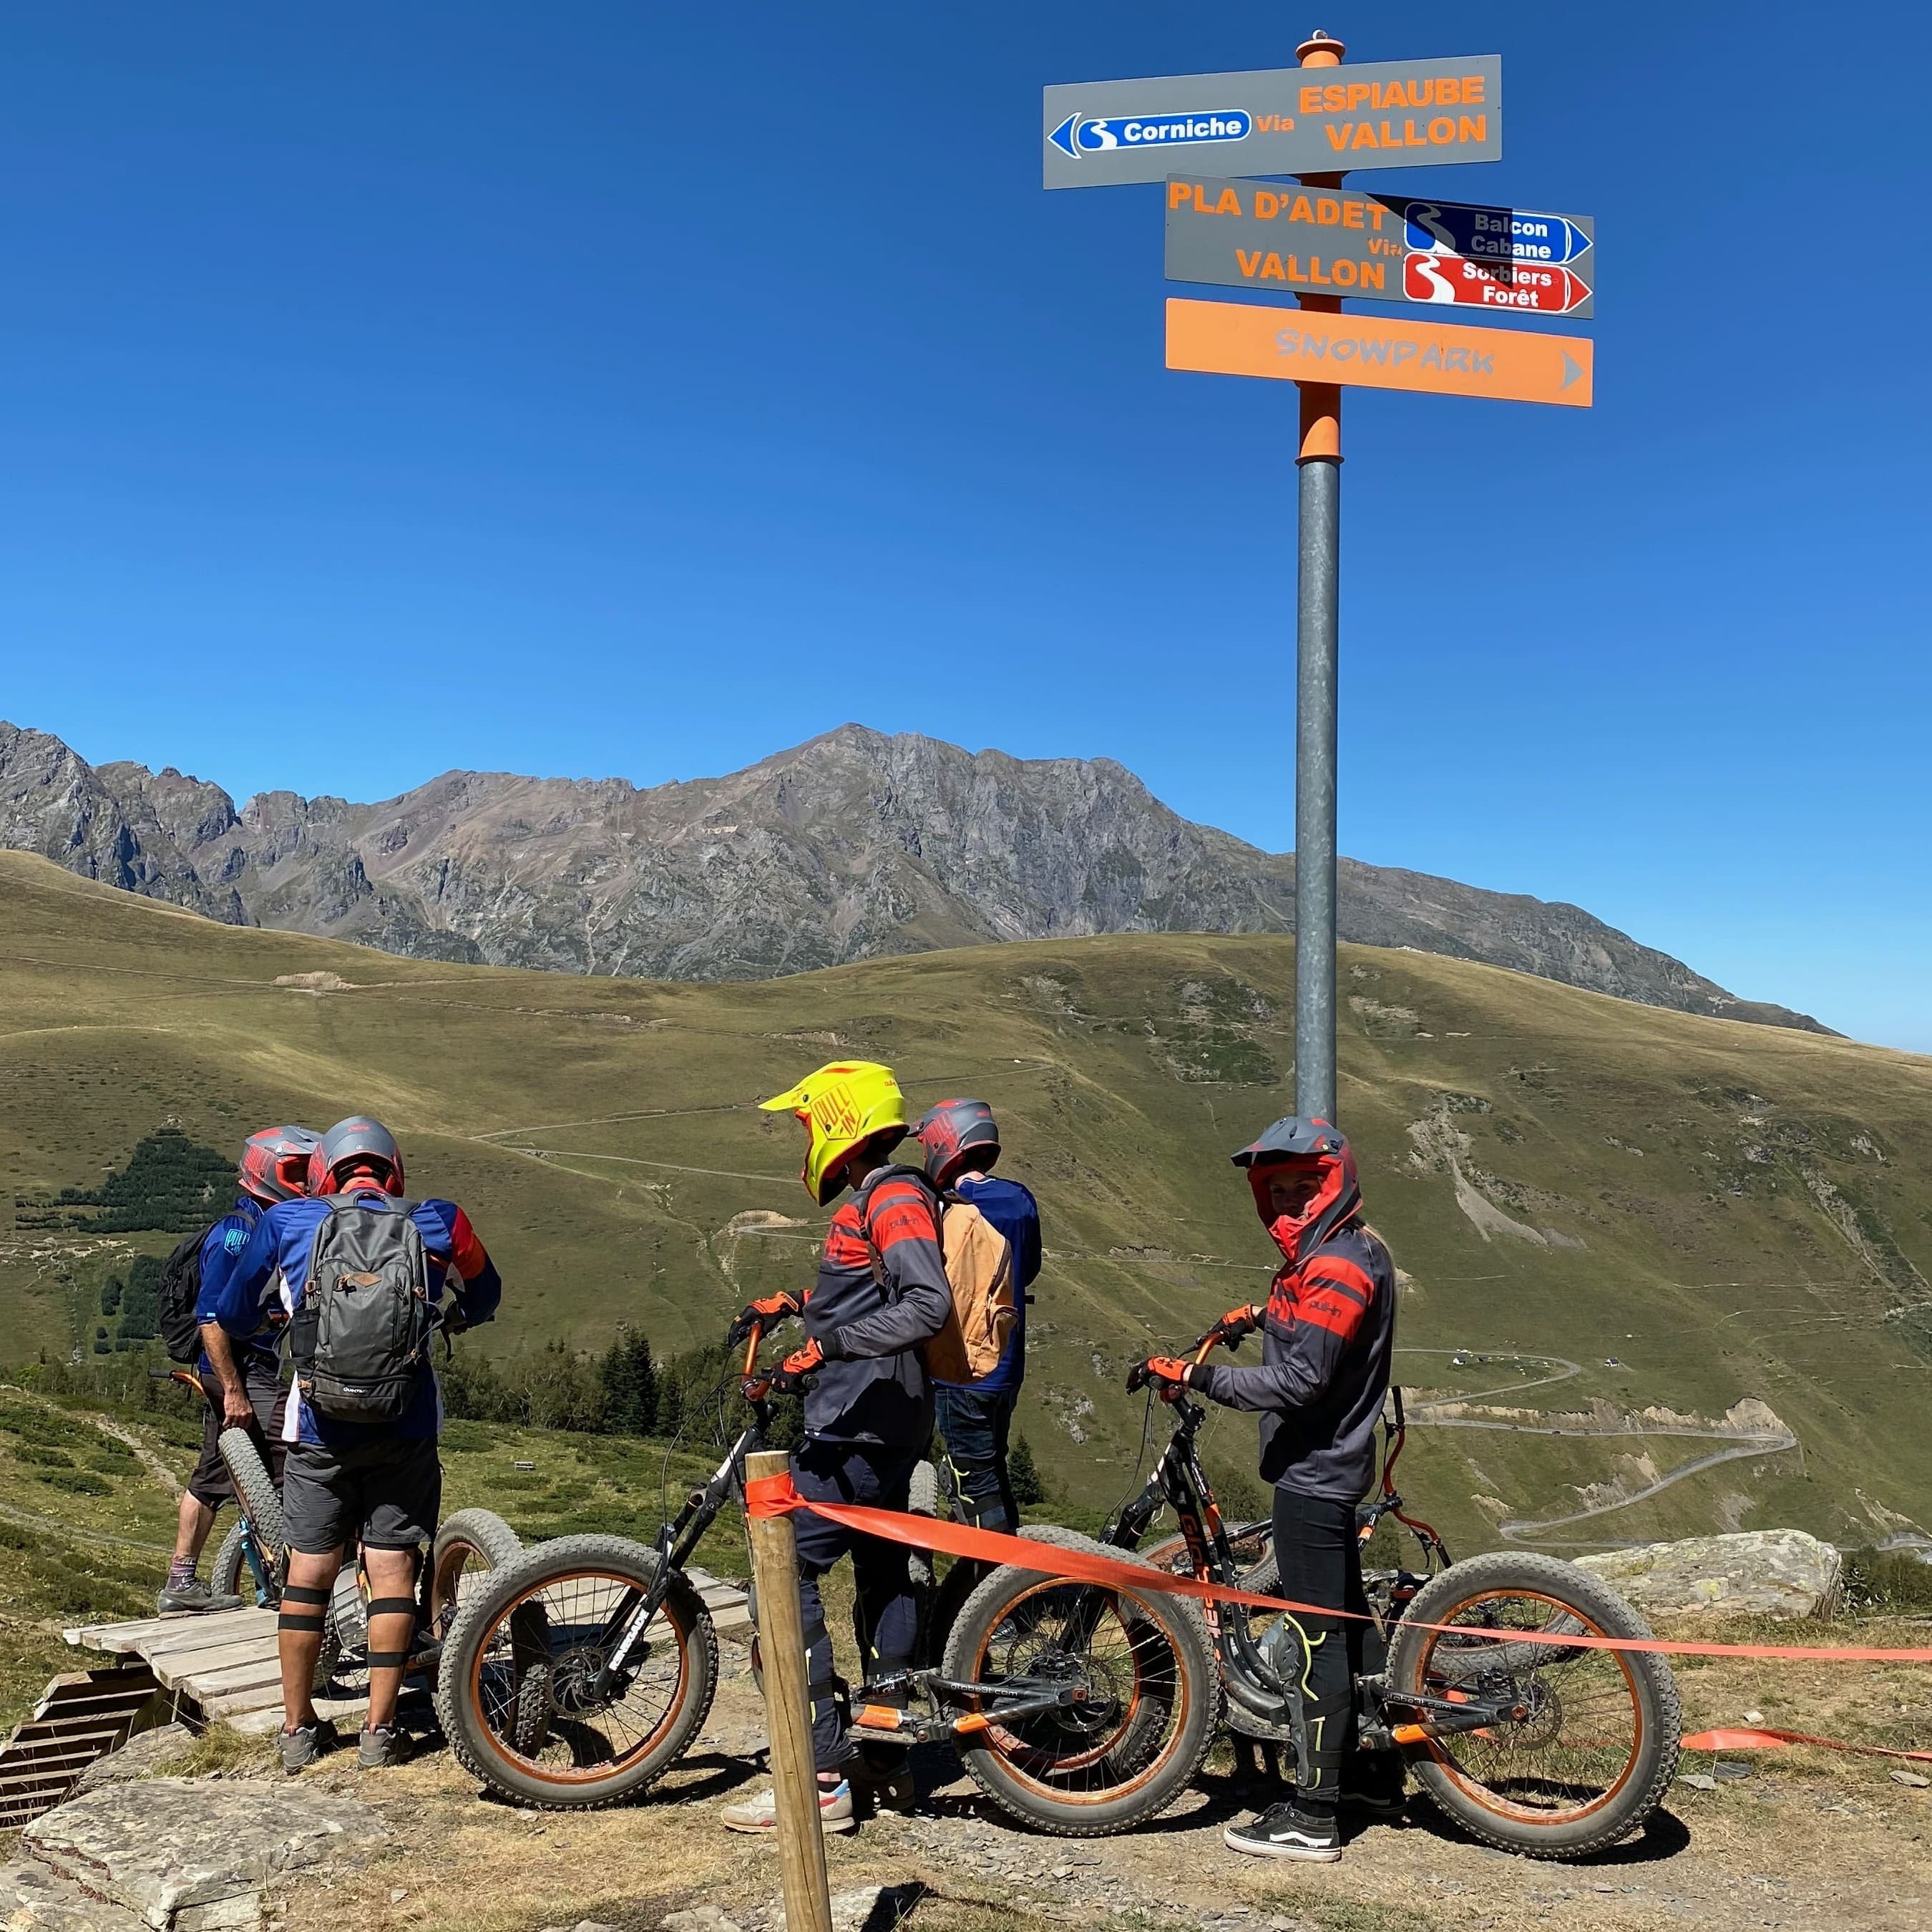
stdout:
<svg viewBox="0 0 1932 1932">
<path fill-rule="evenodd" d="M 999 1122 L 983 1099 L 943 1099 L 912 1132 L 925 1150 L 925 1179 L 972 1202 L 1012 1248 L 1012 1333 L 999 1362 L 978 1381 L 933 1381 L 960 1520 L 1010 1536 L 1020 1511 L 1007 1441 L 1026 1379 L 1026 1291 L 1039 1275 L 1039 1204 L 1018 1180 L 993 1179 Z"/>
</svg>

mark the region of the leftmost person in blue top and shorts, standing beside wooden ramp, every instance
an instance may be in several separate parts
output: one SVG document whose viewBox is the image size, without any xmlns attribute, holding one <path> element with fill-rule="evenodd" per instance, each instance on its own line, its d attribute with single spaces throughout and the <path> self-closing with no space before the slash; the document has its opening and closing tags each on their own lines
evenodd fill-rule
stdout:
<svg viewBox="0 0 1932 1932">
<path fill-rule="evenodd" d="M 255 1223 L 276 1202 L 290 1202 L 305 1192 L 315 1144 L 315 1134 L 305 1126 L 265 1126 L 249 1134 L 236 1163 L 236 1204 L 201 1236 L 201 1293 L 195 1300 L 201 1362 L 195 1372 L 209 1403 L 201 1424 L 201 1459 L 182 1492 L 174 1561 L 156 1602 L 162 1613 L 236 1609 L 242 1604 L 238 1596 L 218 1596 L 195 1575 L 214 1513 L 222 1503 L 234 1501 L 236 1493 L 222 1461 L 222 1430 L 247 1430 L 269 1463 L 276 1490 L 282 1488 L 282 1405 L 288 1389 L 282 1385 L 278 1335 L 269 1329 L 234 1343 L 214 1320 L 214 1308 Z"/>
</svg>

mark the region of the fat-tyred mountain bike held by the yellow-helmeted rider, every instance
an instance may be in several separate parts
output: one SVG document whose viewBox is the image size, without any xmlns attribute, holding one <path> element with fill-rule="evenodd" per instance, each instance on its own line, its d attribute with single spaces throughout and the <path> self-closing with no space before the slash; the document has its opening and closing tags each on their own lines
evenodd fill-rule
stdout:
<svg viewBox="0 0 1932 1932">
<path fill-rule="evenodd" d="M 614 1804 L 690 1748 L 719 1650 L 686 1567 L 724 1505 L 742 1507 L 746 1459 L 773 1428 L 759 1341 L 753 1329 L 740 1376 L 750 1424 L 653 1544 L 564 1536 L 462 1605 L 437 1712 L 483 1783 L 549 1808 Z M 1036 1540 L 1097 1549 L 1070 1530 Z M 1065 1835 L 1126 1830 L 1179 1797 L 1219 1712 L 1196 1605 L 1012 1567 L 954 1565 L 947 1586 L 922 1633 L 937 1662 L 862 1687 L 856 1747 L 949 1743 L 995 1803 Z"/>
</svg>

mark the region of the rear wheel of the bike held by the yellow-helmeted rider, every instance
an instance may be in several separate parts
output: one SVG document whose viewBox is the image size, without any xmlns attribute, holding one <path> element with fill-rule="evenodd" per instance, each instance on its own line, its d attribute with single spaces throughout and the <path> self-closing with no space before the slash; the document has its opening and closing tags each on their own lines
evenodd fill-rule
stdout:
<svg viewBox="0 0 1932 1932">
<path fill-rule="evenodd" d="M 1072 1530 L 1051 1544 L 1151 1569 Z M 960 1758 L 1003 1810 L 1063 1837 L 1122 1832 L 1165 1810 L 1213 1743 L 1221 1679 L 1200 1611 L 1159 1590 L 993 1571 L 960 1607 L 945 1675 L 985 1685 L 987 1723 Z M 1080 1702 L 1001 1721 L 1001 1689 L 1076 1687 Z"/>
</svg>

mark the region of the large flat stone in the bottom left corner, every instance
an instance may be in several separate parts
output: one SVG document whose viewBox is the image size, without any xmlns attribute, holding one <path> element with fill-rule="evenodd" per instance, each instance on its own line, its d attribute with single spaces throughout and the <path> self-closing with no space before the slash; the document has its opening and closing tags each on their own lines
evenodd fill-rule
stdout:
<svg viewBox="0 0 1932 1932">
<path fill-rule="evenodd" d="M 313 1783 L 292 1791 L 151 1777 L 91 1791 L 37 1818 L 21 1853 L 153 1932 L 226 1932 L 261 1922 L 270 1880 L 359 1862 L 386 1837 L 359 1799 Z"/>
</svg>

